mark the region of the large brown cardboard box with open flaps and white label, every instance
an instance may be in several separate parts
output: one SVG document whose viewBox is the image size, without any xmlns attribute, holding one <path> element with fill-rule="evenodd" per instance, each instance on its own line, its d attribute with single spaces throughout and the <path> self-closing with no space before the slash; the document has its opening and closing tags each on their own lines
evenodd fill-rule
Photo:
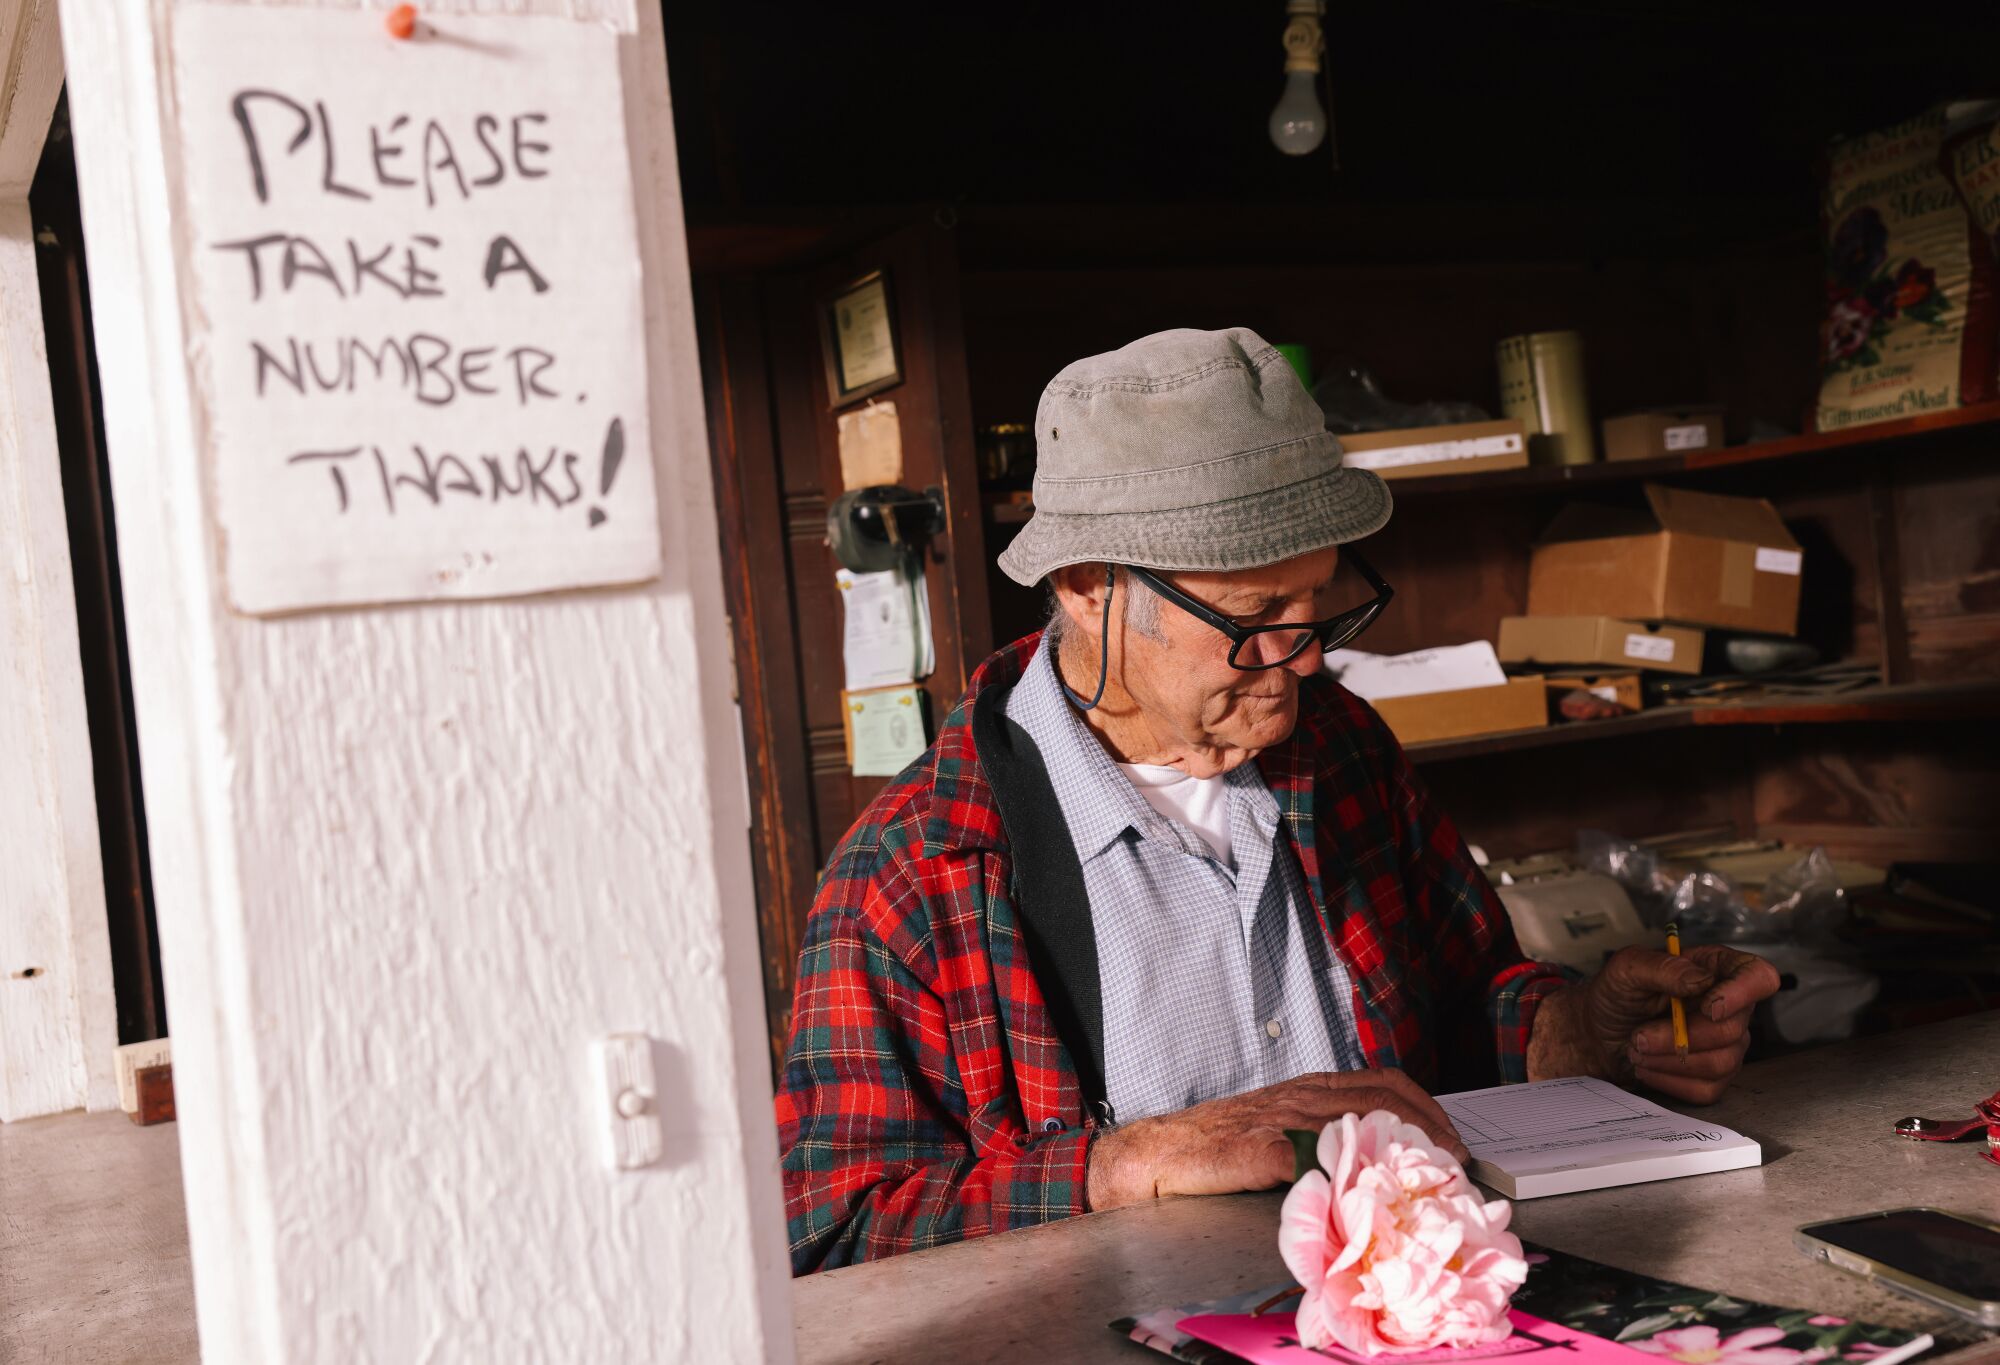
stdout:
<svg viewBox="0 0 2000 1365">
<path fill-rule="evenodd" d="M 1528 614 L 1792 634 L 1800 564 L 1770 502 L 1646 484 L 1644 510 L 1572 502 L 1556 514 L 1528 558 Z"/>
</svg>

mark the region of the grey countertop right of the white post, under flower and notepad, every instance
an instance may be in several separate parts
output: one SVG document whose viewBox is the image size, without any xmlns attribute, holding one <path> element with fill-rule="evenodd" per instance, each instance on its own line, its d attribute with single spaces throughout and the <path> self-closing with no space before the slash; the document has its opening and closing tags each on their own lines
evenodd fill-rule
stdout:
<svg viewBox="0 0 2000 1365">
<path fill-rule="evenodd" d="M 1934 1203 L 2000 1219 L 1980 1143 L 1910 1143 L 1912 1113 L 1970 1115 L 2000 1089 L 2000 1013 L 1746 1067 L 1702 1117 L 1764 1145 L 1764 1165 L 1530 1199 L 1522 1237 L 1744 1299 L 1974 1341 L 1936 1309 L 1792 1247 L 1822 1217 Z M 1284 1283 L 1278 1195 L 1168 1199 L 796 1281 L 802 1365 L 1164 1359 L 1114 1317 Z M 1980 1353 L 1984 1357 L 1984 1353 Z M 2000 1359 L 2000 1345 L 1994 1347 Z"/>
</svg>

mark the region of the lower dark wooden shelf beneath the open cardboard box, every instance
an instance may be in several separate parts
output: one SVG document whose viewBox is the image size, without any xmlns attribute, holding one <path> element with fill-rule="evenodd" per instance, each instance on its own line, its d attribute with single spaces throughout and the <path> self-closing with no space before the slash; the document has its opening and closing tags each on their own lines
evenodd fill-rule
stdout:
<svg viewBox="0 0 2000 1365">
<path fill-rule="evenodd" d="M 1564 721 L 1536 731 L 1502 731 L 1410 745 L 1416 763 L 1628 739 L 1696 725 L 1856 725 L 1870 721 L 1970 721 L 2000 717 L 2000 678 L 1868 687 L 1834 697 L 1758 697 L 1740 703 L 1680 703 L 1610 721 Z"/>
</svg>

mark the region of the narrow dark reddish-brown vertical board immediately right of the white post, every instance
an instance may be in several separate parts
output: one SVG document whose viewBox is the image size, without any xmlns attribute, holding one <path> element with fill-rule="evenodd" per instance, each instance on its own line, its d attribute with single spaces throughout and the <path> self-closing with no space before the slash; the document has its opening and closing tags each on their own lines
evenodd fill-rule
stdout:
<svg viewBox="0 0 2000 1365">
<path fill-rule="evenodd" d="M 790 1035 L 798 943 L 818 877 L 786 580 L 786 508 L 770 424 L 760 290 L 750 280 L 700 280 L 696 310 L 724 586 L 736 642 L 736 699 L 744 761 L 750 765 L 758 945 L 776 1067 Z"/>
</svg>

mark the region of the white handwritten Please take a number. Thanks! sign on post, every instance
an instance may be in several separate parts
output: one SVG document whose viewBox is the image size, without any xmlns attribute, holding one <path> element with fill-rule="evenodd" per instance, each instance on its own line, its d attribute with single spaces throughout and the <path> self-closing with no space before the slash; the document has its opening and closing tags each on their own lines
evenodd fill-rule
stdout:
<svg viewBox="0 0 2000 1365">
<path fill-rule="evenodd" d="M 230 602 L 656 574 L 616 36 L 182 4 L 172 42 Z"/>
</svg>

